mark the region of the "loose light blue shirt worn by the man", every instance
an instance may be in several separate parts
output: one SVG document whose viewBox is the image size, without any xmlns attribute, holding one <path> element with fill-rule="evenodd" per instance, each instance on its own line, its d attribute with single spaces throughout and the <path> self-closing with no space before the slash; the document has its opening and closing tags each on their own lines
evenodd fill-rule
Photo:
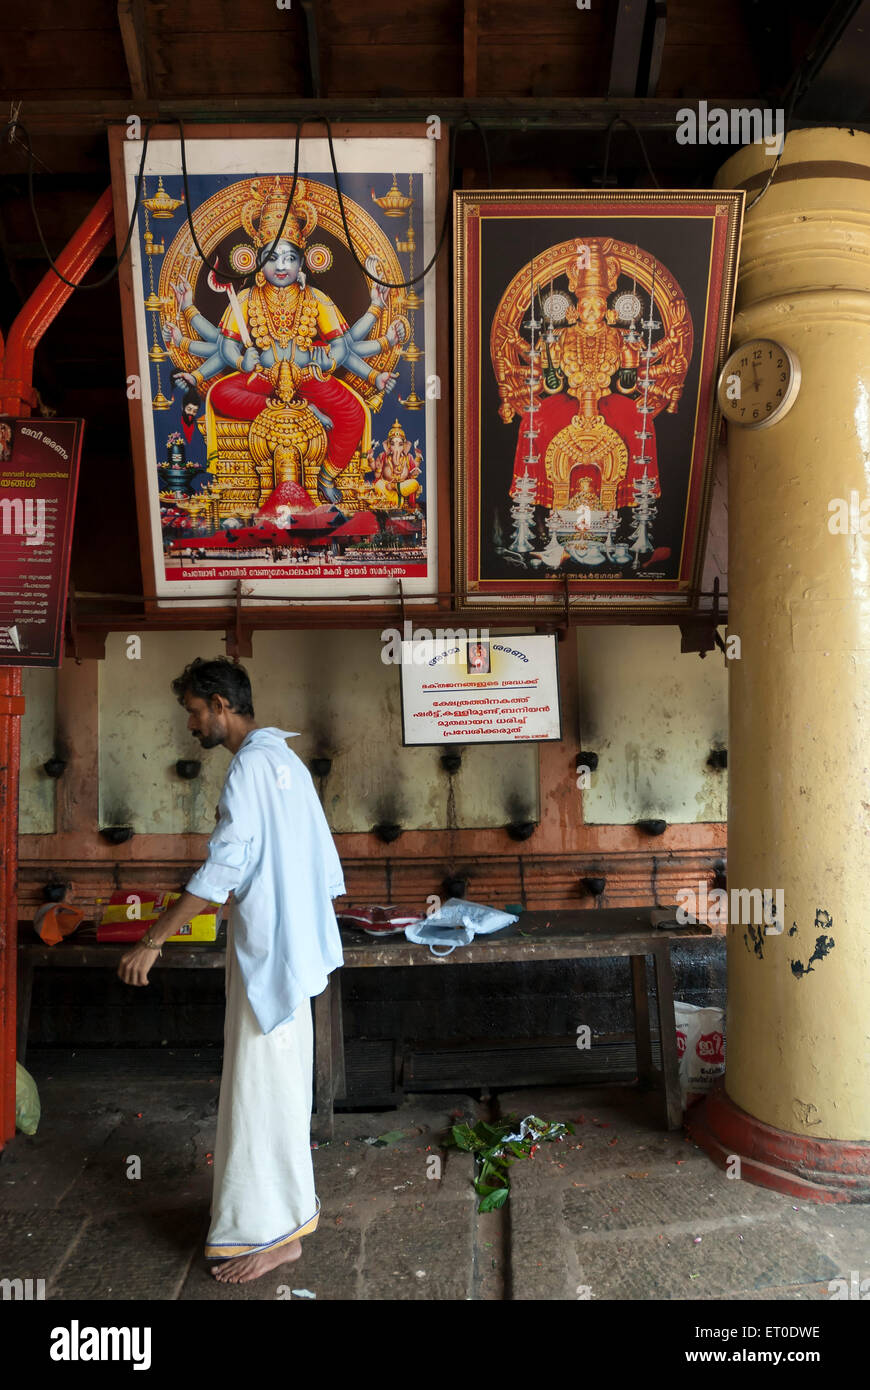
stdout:
<svg viewBox="0 0 870 1390">
<path fill-rule="evenodd" d="M 236 956 L 264 1033 L 286 1023 L 343 965 L 332 898 L 345 892 L 338 851 L 304 763 L 282 728 L 254 728 L 227 770 L 208 856 L 188 891 L 232 892 Z"/>
</svg>

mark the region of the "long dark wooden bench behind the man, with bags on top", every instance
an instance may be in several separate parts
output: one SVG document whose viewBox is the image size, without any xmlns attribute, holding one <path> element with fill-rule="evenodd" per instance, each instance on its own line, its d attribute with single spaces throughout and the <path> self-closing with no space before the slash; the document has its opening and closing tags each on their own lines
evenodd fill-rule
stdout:
<svg viewBox="0 0 870 1390">
<path fill-rule="evenodd" d="M 18 1059 L 26 1055 L 28 1024 L 33 972 L 42 966 L 63 969 L 110 969 L 129 944 L 97 942 L 96 926 L 79 927 L 74 937 L 56 947 L 43 945 L 31 935 L 29 923 L 19 924 L 18 944 Z M 334 970 L 329 984 L 314 998 L 314 1101 L 317 1115 L 313 1133 L 317 1138 L 332 1138 L 334 1102 L 345 1095 L 345 1037 L 342 1027 L 343 970 L 377 966 L 474 966 L 517 960 L 577 960 L 588 956 L 628 956 L 631 960 L 631 990 L 634 1004 L 638 1081 L 662 1090 L 663 1115 L 667 1129 L 680 1129 L 682 1106 L 677 1059 L 677 1029 L 674 1022 L 674 977 L 670 959 L 673 937 L 709 935 L 705 926 L 662 930 L 653 927 L 649 909 L 603 908 L 586 910 L 524 912 L 518 922 L 503 931 L 477 937 L 470 945 L 459 947 L 449 956 L 434 956 L 428 947 L 416 945 L 404 935 L 370 937 L 361 931 L 342 929 L 345 965 Z M 649 997 L 646 992 L 646 956 L 652 956 L 656 979 L 656 1006 L 662 1069 L 652 1065 L 652 1036 Z M 174 942 L 164 947 L 154 970 L 224 970 L 227 960 L 227 929 L 221 924 L 214 942 Z"/>
</svg>

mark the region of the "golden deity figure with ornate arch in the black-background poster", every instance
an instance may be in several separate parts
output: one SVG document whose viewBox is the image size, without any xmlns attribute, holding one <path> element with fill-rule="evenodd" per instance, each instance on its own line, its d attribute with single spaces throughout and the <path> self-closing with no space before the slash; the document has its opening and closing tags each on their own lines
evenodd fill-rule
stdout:
<svg viewBox="0 0 870 1390">
<path fill-rule="evenodd" d="M 652 421 L 678 409 L 692 325 L 655 257 L 610 238 L 549 247 L 502 296 L 491 352 L 499 414 L 521 417 L 511 499 L 613 518 L 643 480 L 660 496 Z"/>
</svg>

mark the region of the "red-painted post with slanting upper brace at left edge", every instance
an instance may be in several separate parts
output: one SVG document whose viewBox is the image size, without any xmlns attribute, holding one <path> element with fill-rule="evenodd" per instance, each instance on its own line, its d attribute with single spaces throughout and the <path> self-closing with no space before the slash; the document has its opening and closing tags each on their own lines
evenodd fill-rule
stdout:
<svg viewBox="0 0 870 1390">
<path fill-rule="evenodd" d="M 57 268 L 78 284 L 114 232 L 111 190 L 57 259 Z M 33 352 L 49 324 L 72 293 L 53 270 L 46 271 L 13 324 L 0 336 L 0 414 L 29 416 L 35 404 Z M 0 667 L 0 1150 L 15 1133 L 15 995 L 18 970 L 18 766 L 21 762 L 21 669 Z"/>
</svg>

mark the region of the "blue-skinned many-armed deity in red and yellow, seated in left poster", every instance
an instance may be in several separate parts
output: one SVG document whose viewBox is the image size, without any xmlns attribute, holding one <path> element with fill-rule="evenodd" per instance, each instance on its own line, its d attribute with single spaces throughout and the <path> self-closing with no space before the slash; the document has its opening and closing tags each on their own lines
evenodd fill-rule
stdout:
<svg viewBox="0 0 870 1390">
<path fill-rule="evenodd" d="M 306 466 L 309 471 L 315 466 L 318 499 L 340 505 L 338 478 L 354 452 L 368 450 L 371 442 L 370 407 L 343 378 L 391 392 L 396 374 L 370 370 L 367 359 L 397 348 L 409 329 L 407 320 L 396 318 L 379 338 L 370 338 L 389 304 L 389 291 L 381 285 L 371 282 L 368 311 L 349 327 L 329 296 L 306 284 L 303 256 L 317 210 L 306 200 L 302 179 L 279 239 L 289 188 L 275 175 L 268 188 L 254 183 L 252 192 L 242 224 L 256 247 L 253 286 L 231 295 L 215 325 L 197 311 L 190 284 L 179 277 L 172 289 L 186 334 L 178 324 L 164 324 L 163 332 L 167 346 L 202 360 L 196 371 L 177 373 L 175 379 L 206 393 L 210 456 L 215 417 L 250 421 L 250 456 L 268 484 L 258 513 L 267 518 L 278 506 L 299 502 Z"/>
</svg>

